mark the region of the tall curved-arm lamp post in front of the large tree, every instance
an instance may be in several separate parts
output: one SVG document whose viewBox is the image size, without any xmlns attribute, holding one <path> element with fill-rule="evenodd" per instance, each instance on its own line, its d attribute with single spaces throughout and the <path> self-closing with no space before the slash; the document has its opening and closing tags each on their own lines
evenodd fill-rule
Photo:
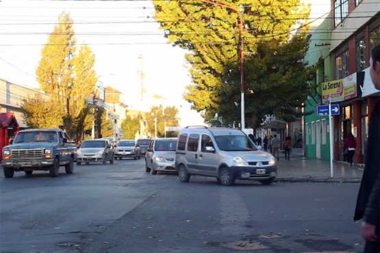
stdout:
<svg viewBox="0 0 380 253">
<path fill-rule="evenodd" d="M 233 8 L 232 6 L 225 5 L 223 3 L 216 3 L 213 1 L 207 1 L 207 0 L 199 0 L 203 3 L 210 3 L 212 5 L 218 5 L 220 7 L 225 7 L 229 10 L 233 10 L 234 12 L 238 13 L 239 15 L 239 36 L 240 36 L 240 92 L 241 92 L 241 98 L 240 98 L 240 124 L 242 126 L 242 130 L 245 128 L 245 118 L 244 118 L 244 43 L 243 43 L 243 29 L 244 29 L 244 23 L 243 23 L 243 14 L 240 10 Z"/>
</svg>

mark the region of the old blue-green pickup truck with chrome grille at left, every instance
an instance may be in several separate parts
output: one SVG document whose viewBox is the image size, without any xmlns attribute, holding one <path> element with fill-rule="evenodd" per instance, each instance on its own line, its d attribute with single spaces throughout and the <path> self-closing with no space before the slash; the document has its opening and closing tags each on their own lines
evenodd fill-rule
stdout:
<svg viewBox="0 0 380 253">
<path fill-rule="evenodd" d="M 58 176 L 64 165 L 67 174 L 73 174 L 77 159 L 75 142 L 68 141 L 62 129 L 26 129 L 19 131 L 11 145 L 3 147 L 1 165 L 5 178 L 14 172 L 30 175 L 34 170 L 49 170 L 51 177 Z"/>
</svg>

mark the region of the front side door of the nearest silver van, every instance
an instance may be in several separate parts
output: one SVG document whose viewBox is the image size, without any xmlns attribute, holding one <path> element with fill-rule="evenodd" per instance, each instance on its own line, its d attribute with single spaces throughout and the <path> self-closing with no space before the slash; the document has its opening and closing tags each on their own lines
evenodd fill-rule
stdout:
<svg viewBox="0 0 380 253">
<path fill-rule="evenodd" d="M 216 145 L 210 135 L 202 135 L 201 152 L 199 152 L 199 173 L 208 176 L 218 176 L 218 155 Z"/>
</svg>

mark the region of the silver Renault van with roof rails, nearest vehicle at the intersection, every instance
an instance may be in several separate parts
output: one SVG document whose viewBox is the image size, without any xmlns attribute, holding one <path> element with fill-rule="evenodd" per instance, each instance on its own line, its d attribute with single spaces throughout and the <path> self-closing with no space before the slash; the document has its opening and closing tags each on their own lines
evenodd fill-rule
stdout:
<svg viewBox="0 0 380 253">
<path fill-rule="evenodd" d="M 181 182 L 201 175 L 214 177 L 221 185 L 233 185 L 236 179 L 270 185 L 277 176 L 273 155 L 259 150 L 244 132 L 220 127 L 181 129 L 175 168 Z"/>
</svg>

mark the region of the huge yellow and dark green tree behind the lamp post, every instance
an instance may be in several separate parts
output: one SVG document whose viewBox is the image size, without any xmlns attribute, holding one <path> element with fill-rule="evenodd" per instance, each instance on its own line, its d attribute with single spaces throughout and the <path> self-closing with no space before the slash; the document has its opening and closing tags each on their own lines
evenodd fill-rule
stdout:
<svg viewBox="0 0 380 253">
<path fill-rule="evenodd" d="M 309 6 L 303 5 L 300 0 L 286 1 L 286 4 L 280 0 L 223 1 L 223 4 L 234 9 L 231 10 L 220 6 L 218 1 L 213 3 L 204 3 L 201 0 L 153 0 L 155 19 L 166 30 L 168 42 L 190 51 L 186 60 L 190 64 L 192 83 L 187 86 L 184 98 L 192 103 L 192 109 L 203 114 L 205 120 L 210 121 L 218 113 L 223 116 L 224 122 L 240 122 L 240 27 L 237 12 L 241 11 L 244 19 L 244 52 L 249 52 L 246 53 L 249 57 L 246 57 L 244 71 L 244 92 L 249 94 L 246 96 L 248 123 L 257 126 L 263 115 L 272 114 L 274 111 L 282 112 L 281 116 L 285 118 L 294 118 L 293 111 L 288 107 L 292 104 L 291 99 L 305 100 L 301 94 L 310 90 L 307 85 L 309 70 L 305 74 L 302 70 L 305 65 L 292 64 L 292 68 L 281 70 L 275 75 L 275 69 L 271 69 L 268 64 L 276 63 L 279 68 L 280 64 L 285 64 L 291 58 L 285 59 L 285 53 L 294 55 L 294 58 L 301 57 L 307 49 L 307 43 L 304 43 L 308 41 L 305 36 L 307 29 L 299 29 L 300 35 L 294 36 L 292 40 L 289 31 L 301 25 L 300 21 L 307 18 Z M 290 44 L 297 45 L 294 51 Z M 265 45 L 270 45 L 270 48 L 265 54 L 266 62 L 262 63 L 259 50 L 262 51 Z M 278 57 L 277 50 L 283 51 L 283 59 Z M 300 59 L 302 58 L 297 61 Z M 292 72 L 293 70 L 299 72 Z M 262 77 L 260 81 L 270 76 L 264 87 L 255 80 L 257 75 Z M 286 87 L 283 87 L 284 82 L 281 81 L 283 75 L 286 75 L 288 81 Z M 299 96 L 283 96 L 281 99 L 286 101 L 286 110 L 282 110 L 283 104 L 278 103 L 280 99 L 268 103 L 268 96 L 263 96 L 270 92 L 273 97 L 279 98 L 283 90 L 287 90 L 286 94 L 291 94 L 296 89 L 301 89 Z M 301 106 L 301 103 L 293 104 Z M 257 105 L 260 105 L 259 109 L 255 109 Z"/>
</svg>

